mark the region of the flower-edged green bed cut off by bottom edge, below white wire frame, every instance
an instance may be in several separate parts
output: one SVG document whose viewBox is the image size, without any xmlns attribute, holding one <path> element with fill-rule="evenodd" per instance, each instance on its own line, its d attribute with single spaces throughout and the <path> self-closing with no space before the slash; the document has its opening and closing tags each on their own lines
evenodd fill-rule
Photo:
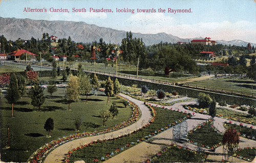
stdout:
<svg viewBox="0 0 256 163">
<path fill-rule="evenodd" d="M 207 155 L 189 148 L 171 144 L 145 162 L 204 162 Z"/>
</svg>

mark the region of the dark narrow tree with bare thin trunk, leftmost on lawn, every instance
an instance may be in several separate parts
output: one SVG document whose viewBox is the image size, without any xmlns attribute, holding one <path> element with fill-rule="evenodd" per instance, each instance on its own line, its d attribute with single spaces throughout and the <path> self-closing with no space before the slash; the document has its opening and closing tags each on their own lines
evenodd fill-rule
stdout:
<svg viewBox="0 0 256 163">
<path fill-rule="evenodd" d="M 9 80 L 10 80 L 10 84 L 8 86 L 6 98 L 8 100 L 8 103 L 12 104 L 12 117 L 13 117 L 14 104 L 19 99 L 20 92 L 18 90 L 18 80 L 14 73 L 11 74 Z"/>
</svg>

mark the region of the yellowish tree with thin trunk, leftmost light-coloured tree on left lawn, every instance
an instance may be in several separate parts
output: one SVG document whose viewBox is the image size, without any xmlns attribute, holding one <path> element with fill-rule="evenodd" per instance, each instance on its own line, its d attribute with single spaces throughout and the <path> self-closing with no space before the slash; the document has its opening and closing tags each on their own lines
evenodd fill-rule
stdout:
<svg viewBox="0 0 256 163">
<path fill-rule="evenodd" d="M 79 100 L 79 84 L 78 84 L 78 77 L 70 75 L 69 83 L 66 90 L 66 96 L 69 99 L 69 110 L 70 110 L 70 103 L 73 100 Z"/>
</svg>

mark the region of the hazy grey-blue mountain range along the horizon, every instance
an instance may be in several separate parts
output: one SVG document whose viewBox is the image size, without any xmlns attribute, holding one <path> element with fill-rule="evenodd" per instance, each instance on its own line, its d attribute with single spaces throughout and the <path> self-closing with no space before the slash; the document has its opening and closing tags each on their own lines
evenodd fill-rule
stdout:
<svg viewBox="0 0 256 163">
<path fill-rule="evenodd" d="M 32 20 L 0 17 L 0 35 L 4 35 L 7 40 L 31 39 L 31 37 L 41 39 L 43 33 L 57 36 L 60 38 L 68 38 L 69 36 L 75 42 L 89 43 L 99 41 L 103 38 L 106 43 L 121 44 L 121 40 L 126 38 L 126 31 L 104 28 L 86 22 L 75 21 L 48 21 L 48 20 Z M 198 38 L 182 39 L 177 36 L 168 35 L 166 33 L 158 34 L 141 34 L 133 33 L 133 38 L 142 38 L 145 45 L 153 45 L 162 42 L 188 42 Z M 208 37 L 208 36 L 207 36 Z M 203 39 L 200 37 L 199 39 Z M 248 42 L 242 40 L 215 40 L 218 44 L 247 46 Z M 256 47 L 255 43 L 250 43 Z"/>
</svg>

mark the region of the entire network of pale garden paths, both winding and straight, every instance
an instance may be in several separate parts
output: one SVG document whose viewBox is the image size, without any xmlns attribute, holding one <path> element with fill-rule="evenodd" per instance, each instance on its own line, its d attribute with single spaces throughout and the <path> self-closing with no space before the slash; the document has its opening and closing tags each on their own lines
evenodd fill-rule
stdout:
<svg viewBox="0 0 256 163">
<path fill-rule="evenodd" d="M 139 106 L 139 108 L 141 110 L 141 118 L 137 122 L 135 122 L 134 124 L 132 124 L 130 126 L 124 127 L 120 130 L 117 130 L 117 131 L 113 131 L 113 132 L 109 132 L 109 133 L 105 133 L 105 134 L 101 134 L 101 135 L 95 135 L 93 137 L 77 139 L 77 140 L 70 141 L 66 144 L 63 144 L 63 145 L 55 148 L 46 157 L 44 162 L 45 163 L 62 162 L 63 159 L 65 158 L 65 154 L 67 154 L 68 151 L 70 151 L 73 148 L 76 148 L 82 144 L 89 144 L 90 142 L 99 140 L 99 139 L 102 140 L 102 139 L 111 139 L 113 137 L 118 137 L 119 135 L 129 133 L 131 131 L 136 130 L 137 128 L 145 125 L 148 121 L 151 120 L 151 118 L 152 118 L 151 111 L 148 109 L 148 107 L 146 105 L 144 105 L 143 101 L 133 99 L 130 96 L 126 96 L 123 94 L 121 94 L 121 96 L 133 101 L 135 104 L 137 104 Z M 177 99 L 177 100 L 179 100 L 179 99 Z M 168 108 L 168 109 L 172 108 L 172 110 L 175 110 L 175 111 L 179 110 L 180 112 L 189 112 L 192 114 L 193 111 L 185 110 L 182 105 L 183 104 L 195 104 L 196 102 L 197 102 L 196 100 L 180 102 L 180 103 L 176 103 L 172 106 L 165 106 L 165 108 Z M 152 104 L 152 105 L 156 105 L 156 104 Z M 196 126 L 198 126 L 202 122 L 207 121 L 208 119 L 210 119 L 210 116 L 208 116 L 208 115 L 195 113 L 195 115 L 192 118 L 187 119 L 187 130 L 191 130 L 191 129 L 195 128 Z M 215 117 L 214 118 L 214 126 L 221 132 L 224 132 L 225 127 L 223 126 L 223 123 L 225 121 L 227 121 L 227 120 L 224 118 Z M 236 121 L 232 121 L 232 122 L 234 123 Z M 240 123 L 240 122 L 237 122 L 237 123 Z M 256 128 L 256 126 L 253 126 L 253 128 Z M 155 155 L 157 152 L 159 152 L 163 146 L 168 146 L 168 145 L 174 144 L 174 143 L 178 144 L 180 146 L 183 146 L 183 147 L 190 148 L 192 150 L 196 150 L 196 148 L 197 148 L 197 146 L 194 144 L 190 144 L 190 143 L 181 144 L 181 143 L 174 142 L 173 141 L 173 127 L 171 127 L 169 129 L 155 135 L 151 139 L 148 139 L 145 142 L 139 143 L 138 145 L 136 145 L 130 149 L 127 149 L 127 150 L 121 152 L 120 154 L 118 154 L 104 162 L 106 162 L 106 163 L 108 163 L 108 162 L 143 162 L 147 158 L 150 158 L 150 156 Z M 256 141 L 241 138 L 241 143 L 239 145 L 240 145 L 240 148 L 255 147 Z M 203 150 L 205 150 L 207 152 L 211 152 L 206 148 L 204 148 Z M 207 159 L 212 159 L 212 160 L 216 160 L 216 161 L 221 161 L 223 159 L 223 157 L 221 155 L 215 155 L 214 153 L 222 153 L 222 146 L 218 147 L 215 152 L 212 152 L 212 155 L 209 154 Z M 234 157 L 233 157 L 233 161 L 234 162 L 246 162 L 245 160 L 242 160 L 239 158 L 234 158 Z"/>
</svg>

